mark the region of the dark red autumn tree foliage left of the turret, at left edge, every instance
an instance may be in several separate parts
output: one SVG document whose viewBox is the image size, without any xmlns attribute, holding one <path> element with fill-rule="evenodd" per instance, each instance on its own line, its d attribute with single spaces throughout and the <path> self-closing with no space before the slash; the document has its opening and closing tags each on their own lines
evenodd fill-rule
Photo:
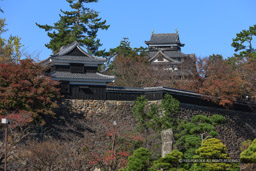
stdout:
<svg viewBox="0 0 256 171">
<path fill-rule="evenodd" d="M 60 97 L 57 85 L 32 60 L 0 64 L 0 115 L 28 111 L 41 120 L 43 115 L 53 115 L 55 100 Z"/>
</svg>

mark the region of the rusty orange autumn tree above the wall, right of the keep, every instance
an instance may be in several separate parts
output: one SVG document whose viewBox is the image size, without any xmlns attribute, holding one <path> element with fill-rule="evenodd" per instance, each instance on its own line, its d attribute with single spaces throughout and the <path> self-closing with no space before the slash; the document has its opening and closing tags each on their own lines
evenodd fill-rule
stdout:
<svg viewBox="0 0 256 171">
<path fill-rule="evenodd" d="M 250 86 L 240 70 L 228 61 L 204 59 L 204 77 L 199 93 L 211 96 L 210 99 L 222 106 L 230 107 L 242 96 L 246 95 L 246 87 Z"/>
</svg>

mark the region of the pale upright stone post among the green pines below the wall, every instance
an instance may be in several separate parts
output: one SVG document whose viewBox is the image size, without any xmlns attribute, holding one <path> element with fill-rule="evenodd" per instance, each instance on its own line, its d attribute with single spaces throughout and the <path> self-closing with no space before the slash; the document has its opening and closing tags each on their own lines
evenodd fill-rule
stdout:
<svg viewBox="0 0 256 171">
<path fill-rule="evenodd" d="M 162 157 L 165 157 L 165 155 L 172 152 L 172 149 L 173 149 L 172 128 L 163 130 L 161 132 L 161 139 L 162 139 Z"/>
</svg>

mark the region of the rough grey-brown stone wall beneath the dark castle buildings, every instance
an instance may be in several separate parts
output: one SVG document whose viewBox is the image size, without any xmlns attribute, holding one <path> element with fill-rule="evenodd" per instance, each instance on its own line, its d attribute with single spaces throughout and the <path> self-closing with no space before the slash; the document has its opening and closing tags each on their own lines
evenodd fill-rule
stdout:
<svg viewBox="0 0 256 171">
<path fill-rule="evenodd" d="M 160 101 L 150 101 L 149 104 L 160 104 Z M 102 100 L 65 100 L 63 107 L 69 107 L 73 113 L 82 114 L 90 121 L 91 127 L 99 124 L 99 120 L 109 123 L 117 121 L 123 129 L 135 127 L 132 114 L 133 102 L 130 101 L 102 101 Z M 228 153 L 233 158 L 240 154 L 240 144 L 244 140 L 256 138 L 256 115 L 246 112 L 237 112 L 224 109 L 181 104 L 180 119 L 190 119 L 193 115 L 221 114 L 226 118 L 225 124 L 218 126 L 219 139 L 226 144 Z M 97 119 L 95 119 L 97 118 Z"/>
</svg>

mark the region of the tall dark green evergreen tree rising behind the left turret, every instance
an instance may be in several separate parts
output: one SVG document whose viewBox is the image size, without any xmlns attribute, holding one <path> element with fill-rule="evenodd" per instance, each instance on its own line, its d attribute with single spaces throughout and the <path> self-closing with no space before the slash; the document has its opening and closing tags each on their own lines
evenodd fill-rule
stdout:
<svg viewBox="0 0 256 171">
<path fill-rule="evenodd" d="M 78 41 L 82 46 L 87 48 L 89 53 L 94 55 L 103 55 L 105 50 L 99 51 L 102 45 L 97 39 L 99 29 L 107 30 L 106 20 L 99 17 L 98 12 L 85 7 L 84 4 L 97 2 L 98 0 L 66 0 L 69 3 L 71 11 L 61 11 L 60 20 L 50 25 L 40 25 L 39 28 L 48 32 L 51 38 L 50 42 L 45 46 L 56 53 L 62 46 L 73 41 Z"/>
</svg>

